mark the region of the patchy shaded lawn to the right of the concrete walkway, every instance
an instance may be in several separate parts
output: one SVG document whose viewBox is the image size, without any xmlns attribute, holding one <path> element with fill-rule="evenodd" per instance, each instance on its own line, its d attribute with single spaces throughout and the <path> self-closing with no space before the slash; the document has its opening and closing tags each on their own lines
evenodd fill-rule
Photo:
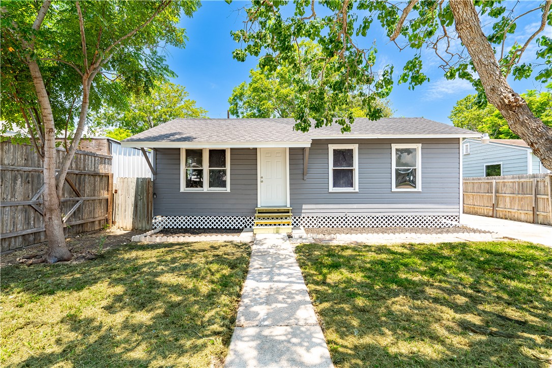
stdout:
<svg viewBox="0 0 552 368">
<path fill-rule="evenodd" d="M 550 366 L 552 249 L 303 244 L 296 253 L 336 366 Z"/>
</svg>

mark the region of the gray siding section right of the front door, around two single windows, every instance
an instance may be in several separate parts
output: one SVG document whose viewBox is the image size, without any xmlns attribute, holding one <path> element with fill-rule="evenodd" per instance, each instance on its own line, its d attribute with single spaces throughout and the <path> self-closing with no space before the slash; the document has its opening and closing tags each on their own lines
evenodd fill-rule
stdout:
<svg viewBox="0 0 552 368">
<path fill-rule="evenodd" d="M 358 143 L 358 192 L 328 191 L 328 144 Z M 391 143 L 422 143 L 422 191 L 391 191 Z M 294 215 L 459 215 L 459 140 L 314 140 L 303 180 L 302 149 L 290 149 Z"/>
</svg>

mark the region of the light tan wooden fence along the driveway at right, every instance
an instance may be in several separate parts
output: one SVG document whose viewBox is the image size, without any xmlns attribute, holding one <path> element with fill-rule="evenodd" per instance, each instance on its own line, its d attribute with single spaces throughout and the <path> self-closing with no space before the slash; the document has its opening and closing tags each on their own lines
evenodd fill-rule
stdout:
<svg viewBox="0 0 552 368">
<path fill-rule="evenodd" d="M 552 225 L 552 175 L 466 177 L 464 213 Z"/>
</svg>

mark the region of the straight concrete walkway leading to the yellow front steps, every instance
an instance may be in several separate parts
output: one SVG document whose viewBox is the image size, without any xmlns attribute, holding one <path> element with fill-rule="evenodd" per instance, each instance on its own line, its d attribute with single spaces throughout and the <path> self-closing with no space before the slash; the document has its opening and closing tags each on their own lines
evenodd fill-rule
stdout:
<svg viewBox="0 0 552 368">
<path fill-rule="evenodd" d="M 256 235 L 224 366 L 333 367 L 285 234 Z"/>
</svg>

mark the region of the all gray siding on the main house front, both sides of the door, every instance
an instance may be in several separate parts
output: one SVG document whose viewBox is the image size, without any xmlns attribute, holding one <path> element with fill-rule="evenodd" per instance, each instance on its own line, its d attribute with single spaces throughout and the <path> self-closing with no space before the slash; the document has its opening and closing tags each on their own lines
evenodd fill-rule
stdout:
<svg viewBox="0 0 552 368">
<path fill-rule="evenodd" d="M 328 144 L 359 144 L 359 192 L 328 192 Z M 422 143 L 422 192 L 391 192 L 391 143 Z M 231 149 L 230 192 L 180 192 L 180 150 L 158 149 L 155 215 L 251 216 L 257 151 Z M 303 150 L 290 149 L 294 215 L 459 215 L 459 140 L 314 140 L 307 180 Z"/>
</svg>

